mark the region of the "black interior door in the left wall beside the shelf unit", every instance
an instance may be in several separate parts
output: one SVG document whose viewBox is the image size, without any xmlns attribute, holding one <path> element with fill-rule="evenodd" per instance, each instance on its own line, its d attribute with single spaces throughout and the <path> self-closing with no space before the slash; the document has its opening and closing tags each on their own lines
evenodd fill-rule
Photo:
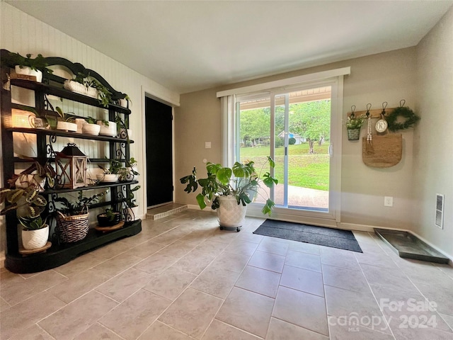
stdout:
<svg viewBox="0 0 453 340">
<path fill-rule="evenodd" d="M 173 202 L 172 110 L 145 99 L 147 207 Z"/>
</svg>

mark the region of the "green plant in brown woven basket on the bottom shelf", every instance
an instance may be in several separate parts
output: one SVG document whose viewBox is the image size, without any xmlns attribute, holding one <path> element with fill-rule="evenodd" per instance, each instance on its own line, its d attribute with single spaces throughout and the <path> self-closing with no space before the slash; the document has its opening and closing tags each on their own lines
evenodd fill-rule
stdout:
<svg viewBox="0 0 453 340">
<path fill-rule="evenodd" d="M 99 198 L 105 196 L 107 191 L 96 193 L 93 196 L 84 196 L 84 191 L 74 203 L 66 197 L 57 197 L 55 202 L 61 203 L 62 207 L 57 209 L 57 227 L 55 232 L 62 242 L 77 242 L 84 239 L 89 229 L 88 206 L 98 202 Z"/>
</svg>

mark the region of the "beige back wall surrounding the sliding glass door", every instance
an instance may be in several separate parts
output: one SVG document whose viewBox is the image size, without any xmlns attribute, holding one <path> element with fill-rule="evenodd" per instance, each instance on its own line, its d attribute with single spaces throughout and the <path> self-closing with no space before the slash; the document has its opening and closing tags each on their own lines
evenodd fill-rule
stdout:
<svg viewBox="0 0 453 340">
<path fill-rule="evenodd" d="M 220 102 L 215 98 L 216 91 L 348 66 L 351 74 L 344 80 L 343 118 L 352 105 L 365 110 L 367 103 L 382 108 L 382 102 L 387 101 L 392 108 L 404 98 L 406 105 L 415 106 L 415 47 L 183 94 L 175 114 L 176 179 L 188 174 L 193 166 L 205 173 L 204 158 L 221 160 Z M 205 134 L 213 141 L 210 150 L 205 149 L 204 142 L 209 141 Z M 362 136 L 365 134 L 364 127 Z M 343 128 L 341 222 L 411 228 L 412 130 L 403 132 L 403 144 L 400 164 L 388 169 L 369 168 L 362 162 L 362 145 L 348 141 Z M 384 196 L 394 197 L 394 207 L 384 207 Z M 176 183 L 175 197 L 177 202 L 196 204 L 195 197 L 183 192 L 180 183 Z"/>
</svg>

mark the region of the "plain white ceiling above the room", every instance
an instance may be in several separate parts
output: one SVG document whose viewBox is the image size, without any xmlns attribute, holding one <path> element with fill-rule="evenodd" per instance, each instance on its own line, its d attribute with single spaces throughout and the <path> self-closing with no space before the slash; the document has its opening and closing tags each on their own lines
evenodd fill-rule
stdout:
<svg viewBox="0 0 453 340">
<path fill-rule="evenodd" d="M 6 1 L 180 94 L 417 45 L 448 1 Z"/>
</svg>

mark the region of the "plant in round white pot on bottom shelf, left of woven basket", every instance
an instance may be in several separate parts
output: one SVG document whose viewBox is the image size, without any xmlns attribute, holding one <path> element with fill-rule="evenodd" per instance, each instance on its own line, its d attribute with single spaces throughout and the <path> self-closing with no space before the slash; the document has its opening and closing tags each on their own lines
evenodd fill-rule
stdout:
<svg viewBox="0 0 453 340">
<path fill-rule="evenodd" d="M 47 243 L 49 238 L 49 226 L 47 218 L 42 220 L 47 200 L 39 194 L 35 186 L 26 188 L 1 188 L 0 203 L 8 202 L 0 215 L 6 215 L 8 211 L 16 210 L 18 222 L 22 229 L 22 246 L 27 250 L 40 249 Z"/>
</svg>

